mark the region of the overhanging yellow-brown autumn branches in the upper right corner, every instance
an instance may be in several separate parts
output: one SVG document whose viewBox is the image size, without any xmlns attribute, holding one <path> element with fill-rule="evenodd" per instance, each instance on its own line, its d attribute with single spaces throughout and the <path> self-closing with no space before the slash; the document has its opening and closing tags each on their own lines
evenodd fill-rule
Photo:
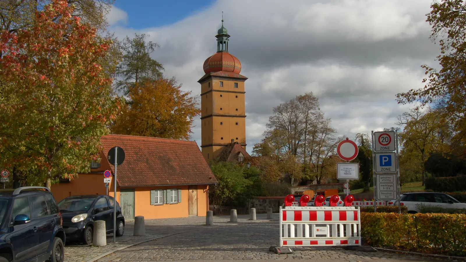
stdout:
<svg viewBox="0 0 466 262">
<path fill-rule="evenodd" d="M 419 101 L 421 106 L 442 100 L 455 139 L 466 142 L 466 2 L 462 0 L 435 1 L 427 21 L 432 26 L 432 40 L 439 39 L 440 69 L 423 65 L 427 77 L 423 88 L 397 94 L 398 103 Z"/>
</svg>

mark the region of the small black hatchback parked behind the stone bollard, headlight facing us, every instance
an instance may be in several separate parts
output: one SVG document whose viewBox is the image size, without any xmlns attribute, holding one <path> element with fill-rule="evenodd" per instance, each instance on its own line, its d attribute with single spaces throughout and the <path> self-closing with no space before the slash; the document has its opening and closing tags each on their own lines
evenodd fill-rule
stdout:
<svg viewBox="0 0 466 262">
<path fill-rule="evenodd" d="M 94 221 L 105 221 L 107 234 L 113 233 L 113 197 L 107 195 L 70 196 L 58 203 L 67 241 L 92 244 Z M 117 202 L 117 236 L 124 233 L 124 217 Z"/>
</svg>

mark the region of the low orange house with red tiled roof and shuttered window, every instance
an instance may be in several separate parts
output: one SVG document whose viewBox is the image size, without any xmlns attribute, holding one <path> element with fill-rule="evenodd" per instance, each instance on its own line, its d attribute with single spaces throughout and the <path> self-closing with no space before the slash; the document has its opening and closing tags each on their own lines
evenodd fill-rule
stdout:
<svg viewBox="0 0 466 262">
<path fill-rule="evenodd" d="M 194 141 L 109 135 L 101 138 L 101 162 L 91 172 L 52 185 L 57 201 L 82 194 L 106 194 L 103 172 L 112 172 L 109 195 L 113 196 L 115 167 L 107 152 L 119 146 L 125 160 L 117 166 L 117 201 L 126 219 L 205 216 L 209 185 L 217 183 Z"/>
</svg>

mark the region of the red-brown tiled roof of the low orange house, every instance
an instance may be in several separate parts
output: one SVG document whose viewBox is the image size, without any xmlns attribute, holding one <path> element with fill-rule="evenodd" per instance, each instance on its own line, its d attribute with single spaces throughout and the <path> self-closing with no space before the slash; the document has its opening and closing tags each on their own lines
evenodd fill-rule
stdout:
<svg viewBox="0 0 466 262">
<path fill-rule="evenodd" d="M 120 186 L 217 183 L 195 141 L 109 135 L 101 142 L 104 155 L 115 146 L 125 152 L 123 164 L 117 166 Z"/>
</svg>

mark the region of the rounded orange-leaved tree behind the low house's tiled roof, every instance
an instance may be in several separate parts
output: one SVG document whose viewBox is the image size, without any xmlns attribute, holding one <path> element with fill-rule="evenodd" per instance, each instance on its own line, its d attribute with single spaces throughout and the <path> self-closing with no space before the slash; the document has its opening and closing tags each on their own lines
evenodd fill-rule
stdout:
<svg viewBox="0 0 466 262">
<path fill-rule="evenodd" d="M 191 137 L 200 109 L 191 92 L 181 90 L 174 79 L 144 80 L 130 88 L 132 103 L 117 118 L 112 132 L 158 138 Z"/>
</svg>

